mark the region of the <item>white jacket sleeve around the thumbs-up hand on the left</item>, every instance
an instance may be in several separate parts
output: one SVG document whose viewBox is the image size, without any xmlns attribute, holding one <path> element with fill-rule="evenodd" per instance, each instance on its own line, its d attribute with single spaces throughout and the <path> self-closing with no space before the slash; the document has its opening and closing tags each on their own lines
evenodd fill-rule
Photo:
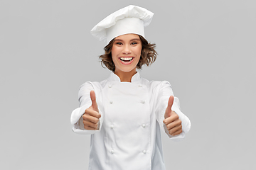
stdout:
<svg viewBox="0 0 256 170">
<path fill-rule="evenodd" d="M 95 132 L 99 132 L 102 128 L 103 123 L 103 116 L 100 118 L 100 128 L 99 130 L 85 130 L 84 125 L 82 123 L 82 115 L 85 113 L 85 110 L 89 108 L 92 105 L 92 101 L 90 99 L 90 91 L 95 91 L 96 95 L 96 102 L 99 103 L 99 89 L 97 86 L 95 86 L 92 82 L 87 81 L 85 84 L 82 84 L 80 86 L 79 92 L 78 92 L 78 101 L 80 103 L 80 107 L 76 108 L 71 113 L 70 123 L 72 125 L 72 130 L 75 133 L 81 134 L 81 135 L 90 135 L 94 134 Z M 100 107 L 98 107 L 99 113 L 102 115 Z"/>
</svg>

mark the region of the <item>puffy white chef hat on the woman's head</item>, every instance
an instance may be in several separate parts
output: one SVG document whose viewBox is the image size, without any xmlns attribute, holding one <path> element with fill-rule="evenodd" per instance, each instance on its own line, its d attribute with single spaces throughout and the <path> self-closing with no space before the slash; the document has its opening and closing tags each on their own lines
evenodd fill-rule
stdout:
<svg viewBox="0 0 256 170">
<path fill-rule="evenodd" d="M 107 44 L 119 35 L 134 33 L 144 35 L 144 27 L 149 26 L 154 13 L 139 6 L 129 5 L 104 18 L 92 28 L 91 33 Z"/>
</svg>

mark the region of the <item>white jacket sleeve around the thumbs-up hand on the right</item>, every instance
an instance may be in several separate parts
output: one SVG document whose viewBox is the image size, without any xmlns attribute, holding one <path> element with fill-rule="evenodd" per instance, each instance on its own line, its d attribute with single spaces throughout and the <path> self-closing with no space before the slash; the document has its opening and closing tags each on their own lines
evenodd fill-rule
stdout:
<svg viewBox="0 0 256 170">
<path fill-rule="evenodd" d="M 176 96 L 174 96 L 174 104 L 171 107 L 171 110 L 175 111 L 178 118 L 181 120 L 182 132 L 176 136 L 171 136 L 169 134 L 163 120 L 170 96 L 174 96 L 174 92 L 171 89 L 171 84 L 168 81 L 162 81 L 161 84 L 159 84 L 158 93 L 156 95 L 156 120 L 159 122 L 160 128 L 166 132 L 166 135 L 168 135 L 172 140 L 178 141 L 184 138 L 185 134 L 190 130 L 191 122 L 188 117 L 181 112 L 179 100 Z"/>
</svg>

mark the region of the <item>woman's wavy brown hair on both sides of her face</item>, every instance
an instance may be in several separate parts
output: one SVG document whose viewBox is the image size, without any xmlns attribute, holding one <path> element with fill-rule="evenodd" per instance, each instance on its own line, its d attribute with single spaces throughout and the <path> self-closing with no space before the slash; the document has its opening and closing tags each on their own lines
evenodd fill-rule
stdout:
<svg viewBox="0 0 256 170">
<path fill-rule="evenodd" d="M 137 64 L 137 69 L 142 69 L 142 65 L 146 64 L 147 66 L 149 66 L 150 64 L 152 64 L 155 60 L 156 60 L 156 55 L 157 52 L 156 50 L 154 50 L 154 48 L 156 47 L 156 44 L 151 44 L 149 43 L 145 38 L 143 38 L 141 35 L 139 35 L 139 39 L 142 41 L 142 53 L 141 53 L 141 57 L 139 59 L 139 62 Z M 114 62 L 112 60 L 112 47 L 114 44 L 114 39 L 110 41 L 110 43 L 108 45 L 106 45 L 106 47 L 104 47 L 105 50 L 105 54 L 104 55 L 100 55 L 100 62 L 103 64 L 110 70 L 112 70 L 112 72 L 114 72 Z"/>
</svg>

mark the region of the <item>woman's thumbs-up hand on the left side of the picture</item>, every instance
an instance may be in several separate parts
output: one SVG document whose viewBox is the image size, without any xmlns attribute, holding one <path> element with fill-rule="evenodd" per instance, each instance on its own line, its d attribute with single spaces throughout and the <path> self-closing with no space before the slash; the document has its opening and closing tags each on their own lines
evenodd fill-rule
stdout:
<svg viewBox="0 0 256 170">
<path fill-rule="evenodd" d="M 98 130 L 99 129 L 99 119 L 100 113 L 97 108 L 96 96 L 94 91 L 90 91 L 90 98 L 92 101 L 92 106 L 85 110 L 85 113 L 82 115 L 82 123 L 86 130 Z"/>
</svg>

